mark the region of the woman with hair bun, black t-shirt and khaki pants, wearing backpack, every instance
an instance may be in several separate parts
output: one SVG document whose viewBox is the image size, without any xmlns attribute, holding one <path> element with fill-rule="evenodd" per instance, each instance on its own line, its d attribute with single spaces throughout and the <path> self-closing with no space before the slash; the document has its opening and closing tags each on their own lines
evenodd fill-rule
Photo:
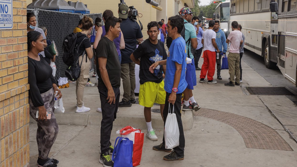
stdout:
<svg viewBox="0 0 297 167">
<path fill-rule="evenodd" d="M 90 78 L 89 72 L 90 72 L 90 59 L 93 58 L 93 51 L 91 48 L 91 42 L 88 38 L 88 35 L 91 34 L 92 27 L 94 25 L 93 19 L 89 18 L 87 16 L 84 16 L 82 19 L 82 31 L 78 32 L 77 35 L 77 41 L 76 44 L 80 44 L 79 47 L 79 57 L 78 62 L 81 64 L 80 67 L 80 75 L 79 78 L 76 81 L 76 100 L 77 100 L 77 113 L 81 112 L 88 112 L 91 109 L 88 107 L 85 107 L 83 105 L 83 93 L 86 87 L 86 84 L 88 82 L 88 79 Z"/>
</svg>

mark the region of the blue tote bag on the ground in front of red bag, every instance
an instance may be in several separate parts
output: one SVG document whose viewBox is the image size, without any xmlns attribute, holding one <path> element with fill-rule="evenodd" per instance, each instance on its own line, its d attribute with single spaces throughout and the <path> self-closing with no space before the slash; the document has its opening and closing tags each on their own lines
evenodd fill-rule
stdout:
<svg viewBox="0 0 297 167">
<path fill-rule="evenodd" d="M 116 144 L 117 141 L 118 144 Z M 117 137 L 116 142 L 112 153 L 113 167 L 132 167 L 133 141 L 129 138 Z"/>
</svg>

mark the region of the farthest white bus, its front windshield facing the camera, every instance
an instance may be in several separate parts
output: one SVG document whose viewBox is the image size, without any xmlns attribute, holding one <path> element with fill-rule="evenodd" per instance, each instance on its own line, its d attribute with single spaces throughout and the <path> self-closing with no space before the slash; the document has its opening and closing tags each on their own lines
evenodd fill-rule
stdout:
<svg viewBox="0 0 297 167">
<path fill-rule="evenodd" d="M 220 2 L 218 4 L 213 16 L 213 20 L 220 21 L 220 29 L 224 31 L 227 38 L 230 20 L 230 1 Z"/>
</svg>

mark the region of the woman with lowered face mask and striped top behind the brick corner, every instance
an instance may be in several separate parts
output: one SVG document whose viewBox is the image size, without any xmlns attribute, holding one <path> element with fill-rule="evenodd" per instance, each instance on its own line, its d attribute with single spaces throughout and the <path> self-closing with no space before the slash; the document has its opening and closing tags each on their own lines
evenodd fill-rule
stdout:
<svg viewBox="0 0 297 167">
<path fill-rule="evenodd" d="M 36 21 L 36 16 L 33 13 L 27 13 L 27 32 L 29 31 L 38 31 L 42 34 L 43 37 L 43 42 L 45 44 L 45 48 L 48 46 L 46 43 L 46 37 L 44 34 L 44 31 L 38 27 L 36 27 L 37 21 Z M 40 54 L 45 57 L 44 51 L 40 52 Z"/>
</svg>

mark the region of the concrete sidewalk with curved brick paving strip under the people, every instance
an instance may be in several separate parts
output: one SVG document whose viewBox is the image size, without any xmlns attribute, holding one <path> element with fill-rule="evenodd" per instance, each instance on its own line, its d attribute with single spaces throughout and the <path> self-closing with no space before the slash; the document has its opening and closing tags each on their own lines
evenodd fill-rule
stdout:
<svg viewBox="0 0 297 167">
<path fill-rule="evenodd" d="M 201 58 L 199 67 L 202 63 Z M 152 146 L 162 142 L 163 134 L 162 118 L 158 113 L 152 113 L 153 127 L 157 129 L 159 140 L 150 141 L 145 137 L 140 166 L 296 166 L 296 142 L 271 116 L 257 95 L 246 95 L 243 92 L 244 86 L 271 86 L 271 84 L 246 63 L 242 62 L 242 67 L 244 73 L 241 86 L 224 86 L 223 83 L 228 82 L 228 70 L 221 71 L 223 79 L 217 80 L 217 84 L 198 82 L 195 86 L 193 94 L 202 109 L 194 113 L 192 129 L 188 128 L 189 130 L 184 132 L 186 140 L 184 160 L 165 161 L 162 157 L 167 155 L 166 152 L 152 149 Z M 196 75 L 199 80 L 200 71 L 196 71 Z M 91 82 L 94 82 L 94 78 L 91 78 Z M 59 125 L 59 135 L 51 149 L 50 157 L 58 159 L 60 161 L 58 166 L 63 167 L 102 166 L 99 163 L 102 117 L 96 111 L 96 108 L 100 107 L 97 87 L 85 88 L 84 104 L 91 108 L 87 116 L 84 113 L 74 113 L 75 92 L 69 90 L 75 90 L 75 84 L 70 84 L 70 88 L 61 90 L 66 111 L 65 116 L 56 114 L 57 120 L 60 123 L 72 120 L 83 124 Z M 275 113 L 282 114 L 279 116 L 282 122 L 286 122 L 292 129 L 296 127 L 296 106 L 287 97 L 260 96 L 260 98 L 275 110 Z M 116 130 L 124 126 L 140 127 L 146 131 L 142 106 L 133 104 L 132 107 L 119 110 L 118 115 L 122 118 L 113 124 L 112 144 L 118 136 L 115 134 Z M 188 114 L 193 115 L 192 112 Z M 37 166 L 36 129 L 37 124 L 31 123 L 30 166 Z"/>
</svg>

